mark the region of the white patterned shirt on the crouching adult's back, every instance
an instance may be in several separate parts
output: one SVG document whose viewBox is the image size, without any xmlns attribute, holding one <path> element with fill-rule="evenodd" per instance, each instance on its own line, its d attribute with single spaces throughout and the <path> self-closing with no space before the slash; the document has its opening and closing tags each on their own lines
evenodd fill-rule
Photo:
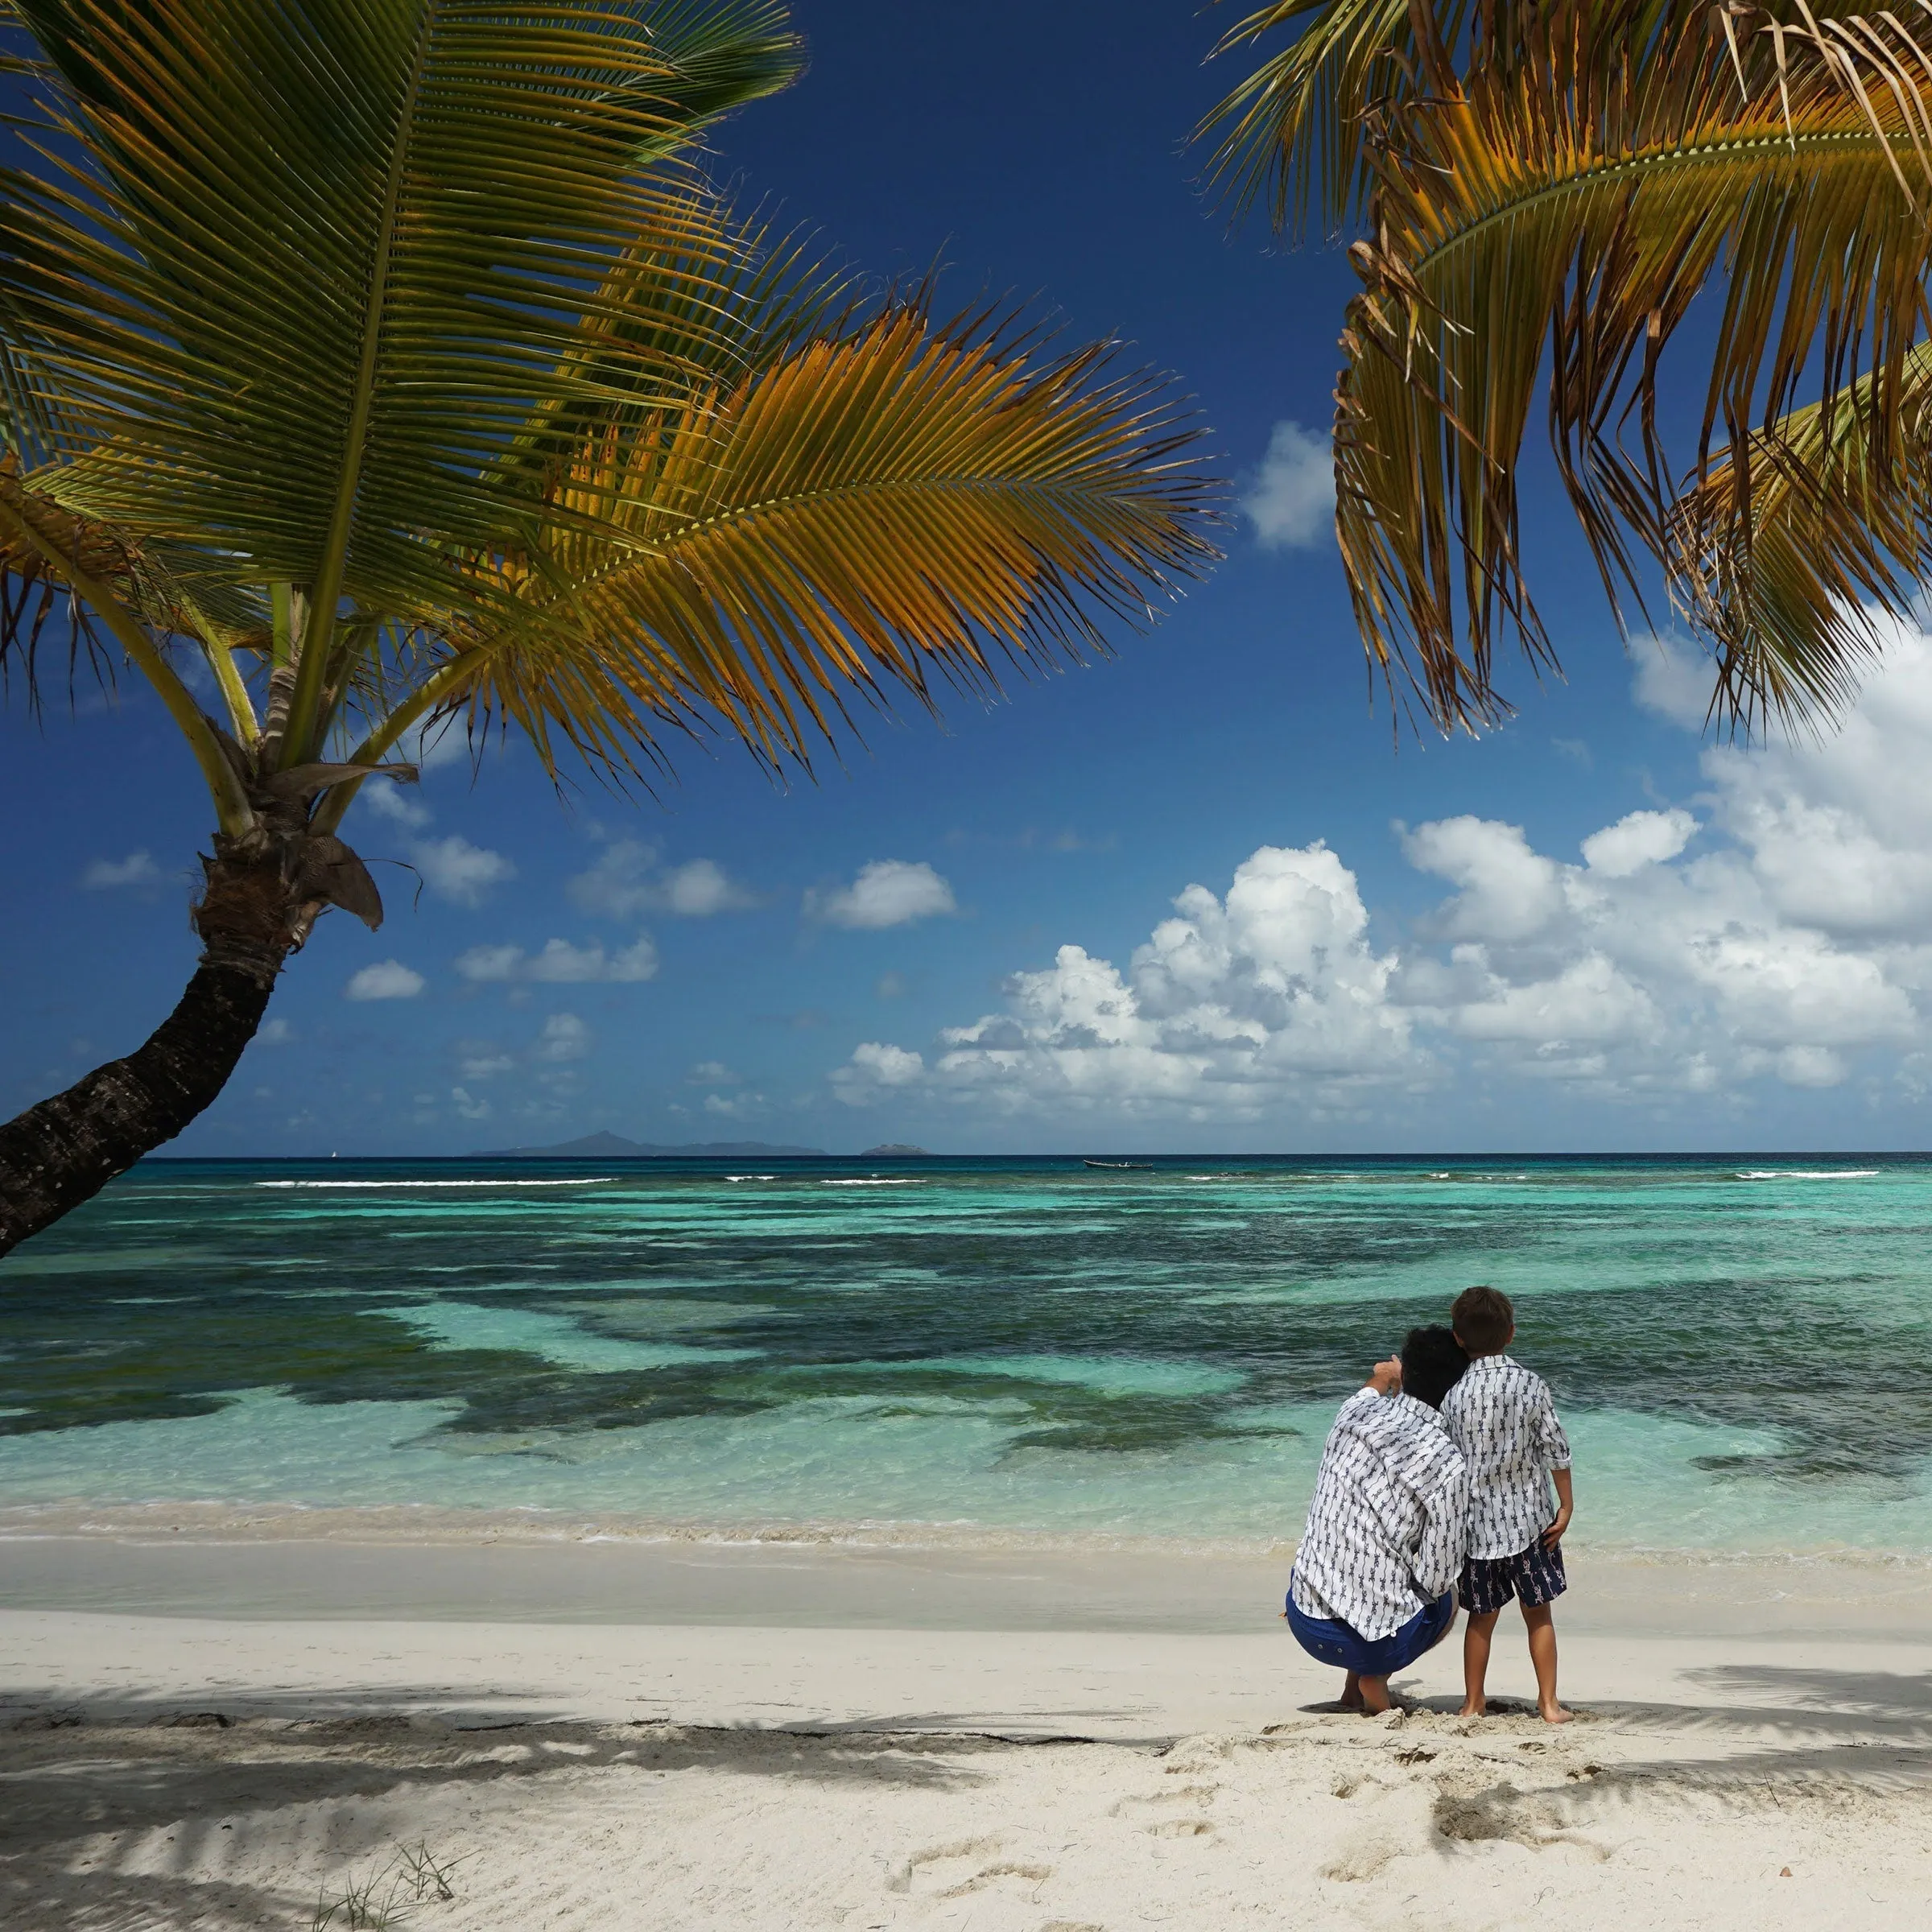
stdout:
<svg viewBox="0 0 1932 1932">
<path fill-rule="evenodd" d="M 1360 1389 L 1321 1449 L 1294 1605 L 1376 1642 L 1434 1604 L 1463 1571 L 1468 1470 L 1441 1418 L 1412 1395 Z"/>
</svg>

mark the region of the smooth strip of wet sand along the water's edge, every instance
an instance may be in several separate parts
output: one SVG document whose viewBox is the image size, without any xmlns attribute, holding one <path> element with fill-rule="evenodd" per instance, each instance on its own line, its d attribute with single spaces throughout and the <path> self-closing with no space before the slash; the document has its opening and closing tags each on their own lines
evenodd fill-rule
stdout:
<svg viewBox="0 0 1932 1932">
<path fill-rule="evenodd" d="M 176 1519 L 180 1520 L 180 1519 Z M 1273 1634 L 1293 1551 L 794 1540 L 0 1536 L 0 1609 L 153 1617 Z M 1932 1567 L 1571 1551 L 1559 1629 L 1932 1638 Z"/>
</svg>

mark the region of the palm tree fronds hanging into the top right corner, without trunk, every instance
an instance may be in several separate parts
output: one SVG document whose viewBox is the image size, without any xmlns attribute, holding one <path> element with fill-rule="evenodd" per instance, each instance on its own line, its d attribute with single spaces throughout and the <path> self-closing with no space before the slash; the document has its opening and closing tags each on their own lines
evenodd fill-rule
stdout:
<svg viewBox="0 0 1932 1932">
<path fill-rule="evenodd" d="M 1269 0 L 1221 50 L 1264 43 L 1204 133 L 1236 211 L 1362 230 L 1335 526 L 1372 665 L 1447 730 L 1507 711 L 1499 641 L 1555 661 L 1519 545 L 1544 392 L 1619 618 L 1662 572 L 1719 724 L 1839 709 L 1932 566 L 1920 15 Z"/>
</svg>

